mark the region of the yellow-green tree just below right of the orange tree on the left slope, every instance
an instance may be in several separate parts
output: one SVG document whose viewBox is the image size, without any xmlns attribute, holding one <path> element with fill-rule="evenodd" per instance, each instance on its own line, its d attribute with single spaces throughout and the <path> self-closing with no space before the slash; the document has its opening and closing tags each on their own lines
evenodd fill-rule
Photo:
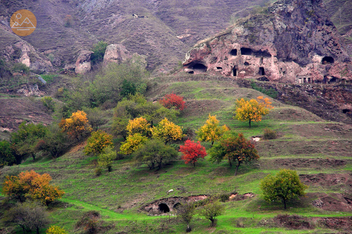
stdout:
<svg viewBox="0 0 352 234">
<path fill-rule="evenodd" d="M 108 146 L 113 146 L 112 135 L 102 130 L 93 131 L 87 140 L 84 153 L 98 155 Z"/>
</svg>

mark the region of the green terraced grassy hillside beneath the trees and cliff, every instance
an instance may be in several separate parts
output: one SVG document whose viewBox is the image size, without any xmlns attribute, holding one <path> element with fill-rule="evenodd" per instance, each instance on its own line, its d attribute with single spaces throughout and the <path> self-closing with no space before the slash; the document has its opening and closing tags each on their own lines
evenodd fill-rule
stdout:
<svg viewBox="0 0 352 234">
<path fill-rule="evenodd" d="M 179 82 L 173 77 L 155 78 L 155 81 L 158 85 L 147 93 L 150 100 L 172 91 L 185 97 L 187 108 L 176 122 L 183 127 L 198 129 L 210 113 L 217 114 L 220 124 L 226 124 L 232 132 L 244 133 L 247 138 L 263 135 L 264 128 L 276 130 L 279 137 L 259 141 L 260 160 L 242 165 L 237 176 L 234 176 L 235 168 L 230 168 L 228 163 L 213 164 L 207 157 L 198 161 L 196 167 L 177 158 L 162 170 L 136 166 L 132 158 L 126 157 L 114 161 L 111 172 L 104 171 L 97 177 L 94 175 L 96 158 L 83 154 L 85 144 L 82 143 L 57 159 L 39 157 L 34 163 L 28 159 L 19 166 L 4 167 L 1 181 L 6 174 L 22 170 L 49 173 L 53 182 L 66 192 L 49 210 L 52 223 L 65 227 L 70 233 L 81 232 L 75 228 L 75 223 L 89 210 L 101 212 L 101 233 L 184 233 L 186 226 L 175 216 L 153 216 L 141 210 L 157 199 L 231 192 L 237 192 L 238 199 L 223 203 L 226 210 L 219 216 L 217 226 L 211 228 L 209 220 L 196 216 L 191 222 L 192 233 L 351 231 L 351 125 L 326 121 L 305 109 L 274 100 L 270 114 L 248 128 L 247 123 L 232 119 L 234 101 L 242 97 L 256 98 L 262 93 L 239 87 L 235 82 Z M 103 128 L 109 129 L 110 123 Z M 210 148 L 209 143 L 203 145 Z M 309 185 L 307 195 L 289 202 L 286 211 L 280 203 L 265 202 L 259 190 L 261 179 L 282 168 L 297 170 L 301 180 Z M 174 191 L 168 193 L 171 189 Z M 317 200 L 323 205 L 313 206 Z M 287 227 L 276 218 L 286 213 L 306 216 L 314 228 Z"/>
</svg>

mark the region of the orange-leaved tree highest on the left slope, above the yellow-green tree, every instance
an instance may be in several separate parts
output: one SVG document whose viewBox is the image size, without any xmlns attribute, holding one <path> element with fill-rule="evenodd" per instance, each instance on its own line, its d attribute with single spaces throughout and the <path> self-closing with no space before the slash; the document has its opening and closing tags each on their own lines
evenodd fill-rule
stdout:
<svg viewBox="0 0 352 234">
<path fill-rule="evenodd" d="M 62 119 L 59 126 L 78 141 L 80 140 L 78 138 L 79 136 L 83 138 L 83 133 L 92 130 L 88 124 L 87 114 L 82 110 L 77 110 L 77 112 L 73 112 L 69 118 Z"/>
</svg>

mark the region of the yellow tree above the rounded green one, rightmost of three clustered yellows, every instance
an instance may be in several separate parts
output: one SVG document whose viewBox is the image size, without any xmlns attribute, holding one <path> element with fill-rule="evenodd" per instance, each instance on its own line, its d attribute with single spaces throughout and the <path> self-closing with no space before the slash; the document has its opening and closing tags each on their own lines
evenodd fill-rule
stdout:
<svg viewBox="0 0 352 234">
<path fill-rule="evenodd" d="M 171 141 L 176 141 L 183 137 L 182 128 L 167 118 L 161 120 L 157 127 L 151 128 L 152 137 L 154 139 L 161 139 L 165 145 Z"/>
</svg>

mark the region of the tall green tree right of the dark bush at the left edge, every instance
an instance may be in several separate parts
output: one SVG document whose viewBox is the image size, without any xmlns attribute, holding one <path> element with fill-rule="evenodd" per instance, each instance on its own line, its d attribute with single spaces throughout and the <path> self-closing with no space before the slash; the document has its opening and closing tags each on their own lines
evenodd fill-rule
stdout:
<svg viewBox="0 0 352 234">
<path fill-rule="evenodd" d="M 15 144 L 15 150 L 20 155 L 31 155 L 33 161 L 39 151 L 38 143 L 44 138 L 46 128 L 42 124 L 27 124 L 25 121 L 19 126 L 17 132 L 11 133 L 11 142 Z"/>
</svg>

